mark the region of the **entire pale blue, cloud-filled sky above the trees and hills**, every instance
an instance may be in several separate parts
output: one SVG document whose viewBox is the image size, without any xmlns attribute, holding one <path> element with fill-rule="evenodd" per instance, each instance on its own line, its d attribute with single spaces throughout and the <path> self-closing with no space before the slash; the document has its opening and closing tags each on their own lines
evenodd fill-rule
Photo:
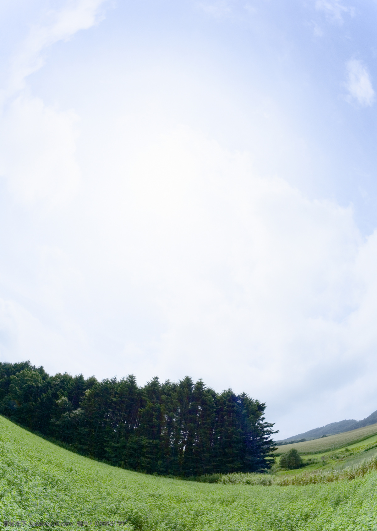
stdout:
<svg viewBox="0 0 377 531">
<path fill-rule="evenodd" d="M 0 361 L 376 410 L 376 16 L 3 0 Z"/>
</svg>

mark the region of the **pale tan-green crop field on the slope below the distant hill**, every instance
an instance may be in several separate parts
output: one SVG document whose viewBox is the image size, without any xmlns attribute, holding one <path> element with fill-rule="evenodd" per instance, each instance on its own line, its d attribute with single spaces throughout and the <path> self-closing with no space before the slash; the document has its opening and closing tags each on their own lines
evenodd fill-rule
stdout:
<svg viewBox="0 0 377 531">
<path fill-rule="evenodd" d="M 336 435 L 330 435 L 321 439 L 285 444 L 284 446 L 279 446 L 275 453 L 288 452 L 291 448 L 295 448 L 299 453 L 321 453 L 349 446 L 349 444 L 355 444 L 375 434 L 377 434 L 377 424 L 371 424 L 370 426 L 358 428 L 357 430 L 337 433 Z"/>
</svg>

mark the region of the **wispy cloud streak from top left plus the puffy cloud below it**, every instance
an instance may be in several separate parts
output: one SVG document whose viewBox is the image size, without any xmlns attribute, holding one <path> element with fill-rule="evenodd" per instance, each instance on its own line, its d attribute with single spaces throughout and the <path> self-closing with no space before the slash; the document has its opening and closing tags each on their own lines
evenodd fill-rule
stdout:
<svg viewBox="0 0 377 531">
<path fill-rule="evenodd" d="M 46 106 L 32 97 L 25 80 L 44 64 L 43 52 L 100 20 L 105 0 L 67 0 L 59 10 L 40 14 L 11 58 L 11 74 L 2 91 L 0 175 L 19 200 L 44 201 L 48 208 L 71 198 L 80 180 L 75 160 L 78 116 Z"/>
</svg>

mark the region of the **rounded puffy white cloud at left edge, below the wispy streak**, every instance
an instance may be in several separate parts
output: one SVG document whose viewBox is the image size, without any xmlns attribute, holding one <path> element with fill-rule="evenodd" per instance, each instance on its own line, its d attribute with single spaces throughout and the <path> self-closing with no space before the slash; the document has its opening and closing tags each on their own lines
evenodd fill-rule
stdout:
<svg viewBox="0 0 377 531">
<path fill-rule="evenodd" d="M 73 112 L 59 112 L 27 93 L 7 107 L 0 124 L 0 175 L 17 198 L 47 200 L 52 208 L 76 191 L 77 120 Z"/>
</svg>

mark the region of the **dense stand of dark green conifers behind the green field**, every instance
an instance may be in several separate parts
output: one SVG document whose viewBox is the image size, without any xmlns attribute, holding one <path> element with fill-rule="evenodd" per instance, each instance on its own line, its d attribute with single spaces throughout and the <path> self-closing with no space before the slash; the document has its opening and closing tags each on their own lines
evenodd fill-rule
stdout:
<svg viewBox="0 0 377 531">
<path fill-rule="evenodd" d="M 150 474 L 262 472 L 275 450 L 265 404 L 202 380 L 139 387 L 134 375 L 48 375 L 29 361 L 0 363 L 0 413 L 82 455 Z"/>
</svg>

